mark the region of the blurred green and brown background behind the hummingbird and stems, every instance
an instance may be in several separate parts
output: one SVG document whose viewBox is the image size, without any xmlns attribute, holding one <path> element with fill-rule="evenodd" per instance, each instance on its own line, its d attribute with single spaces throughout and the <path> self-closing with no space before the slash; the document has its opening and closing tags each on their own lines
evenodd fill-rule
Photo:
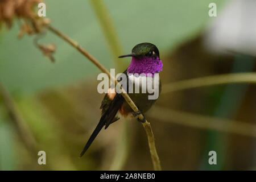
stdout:
<svg viewBox="0 0 256 182">
<path fill-rule="evenodd" d="M 116 46 L 123 53 L 142 42 L 159 48 L 164 63 L 163 84 L 255 71 L 254 57 L 212 55 L 201 43 L 205 28 L 214 19 L 208 15 L 209 3 L 215 2 L 219 13 L 229 1 L 102 2 L 121 43 Z M 114 61 L 118 55 L 111 51 L 92 2 L 46 0 L 46 5 L 47 18 L 54 27 L 79 42 L 106 68 L 118 67 Z M 1 28 L 0 79 L 34 136 L 36 149 L 46 151 L 47 165 L 39 166 L 37 153 L 29 151 L 19 139 L 0 97 L 0 169 L 152 169 L 146 135 L 135 120 L 120 121 L 101 131 L 88 154 L 78 158 L 100 118 L 100 71 L 74 48 L 47 32 L 39 43 L 56 45 L 56 62 L 51 63 L 34 46 L 33 37 L 18 39 L 18 31 L 18 22 L 11 30 Z M 119 61 L 120 65 L 129 65 L 130 60 Z M 255 86 L 244 84 L 191 89 L 160 96 L 156 107 L 255 124 L 255 91 Z M 154 114 L 154 108 L 151 111 Z M 148 117 L 163 169 L 255 169 L 255 138 L 179 125 L 172 123 L 175 117 L 165 114 L 170 122 Z M 216 166 L 208 164 L 210 150 L 217 151 Z"/>
</svg>

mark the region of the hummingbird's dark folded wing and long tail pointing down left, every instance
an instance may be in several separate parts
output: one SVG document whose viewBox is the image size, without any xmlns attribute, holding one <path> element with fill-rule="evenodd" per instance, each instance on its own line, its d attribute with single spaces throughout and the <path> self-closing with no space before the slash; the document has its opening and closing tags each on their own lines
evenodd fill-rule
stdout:
<svg viewBox="0 0 256 182">
<path fill-rule="evenodd" d="M 104 100 L 105 100 L 105 97 L 104 97 Z M 85 147 L 82 150 L 80 157 L 82 155 L 84 155 L 85 152 L 88 150 L 88 148 L 90 147 L 90 144 L 92 144 L 93 140 L 97 137 L 98 133 L 100 133 L 102 127 L 104 127 L 104 125 L 106 125 L 106 127 L 108 127 L 113 122 L 113 119 L 115 118 L 115 115 L 117 114 L 118 110 L 121 108 L 124 100 L 125 99 L 123 98 L 123 96 L 121 94 L 115 94 L 115 97 L 111 102 L 108 100 L 102 101 L 102 103 L 103 102 L 105 103 L 104 108 L 102 108 L 102 111 L 104 110 L 104 112 L 102 112 L 100 122 L 98 122 L 96 129 L 94 129 L 88 142 L 85 144 Z"/>
</svg>

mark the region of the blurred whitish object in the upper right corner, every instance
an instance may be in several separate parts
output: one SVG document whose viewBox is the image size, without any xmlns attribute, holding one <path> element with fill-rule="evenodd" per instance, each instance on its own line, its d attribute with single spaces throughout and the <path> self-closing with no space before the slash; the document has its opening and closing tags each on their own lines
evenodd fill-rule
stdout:
<svg viewBox="0 0 256 182">
<path fill-rule="evenodd" d="M 205 47 L 214 53 L 256 56 L 256 0 L 230 1 L 207 28 Z"/>
</svg>

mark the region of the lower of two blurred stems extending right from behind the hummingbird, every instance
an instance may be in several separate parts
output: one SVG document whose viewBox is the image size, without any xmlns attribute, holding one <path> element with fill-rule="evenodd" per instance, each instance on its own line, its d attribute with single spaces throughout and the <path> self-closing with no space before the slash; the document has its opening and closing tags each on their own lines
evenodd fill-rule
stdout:
<svg viewBox="0 0 256 182">
<path fill-rule="evenodd" d="M 177 125 L 256 137 L 256 125 L 241 121 L 187 113 L 160 106 L 155 106 L 154 112 L 148 114 L 153 119 L 160 119 L 160 121 Z M 172 119 L 170 119 L 170 115 Z"/>
</svg>

